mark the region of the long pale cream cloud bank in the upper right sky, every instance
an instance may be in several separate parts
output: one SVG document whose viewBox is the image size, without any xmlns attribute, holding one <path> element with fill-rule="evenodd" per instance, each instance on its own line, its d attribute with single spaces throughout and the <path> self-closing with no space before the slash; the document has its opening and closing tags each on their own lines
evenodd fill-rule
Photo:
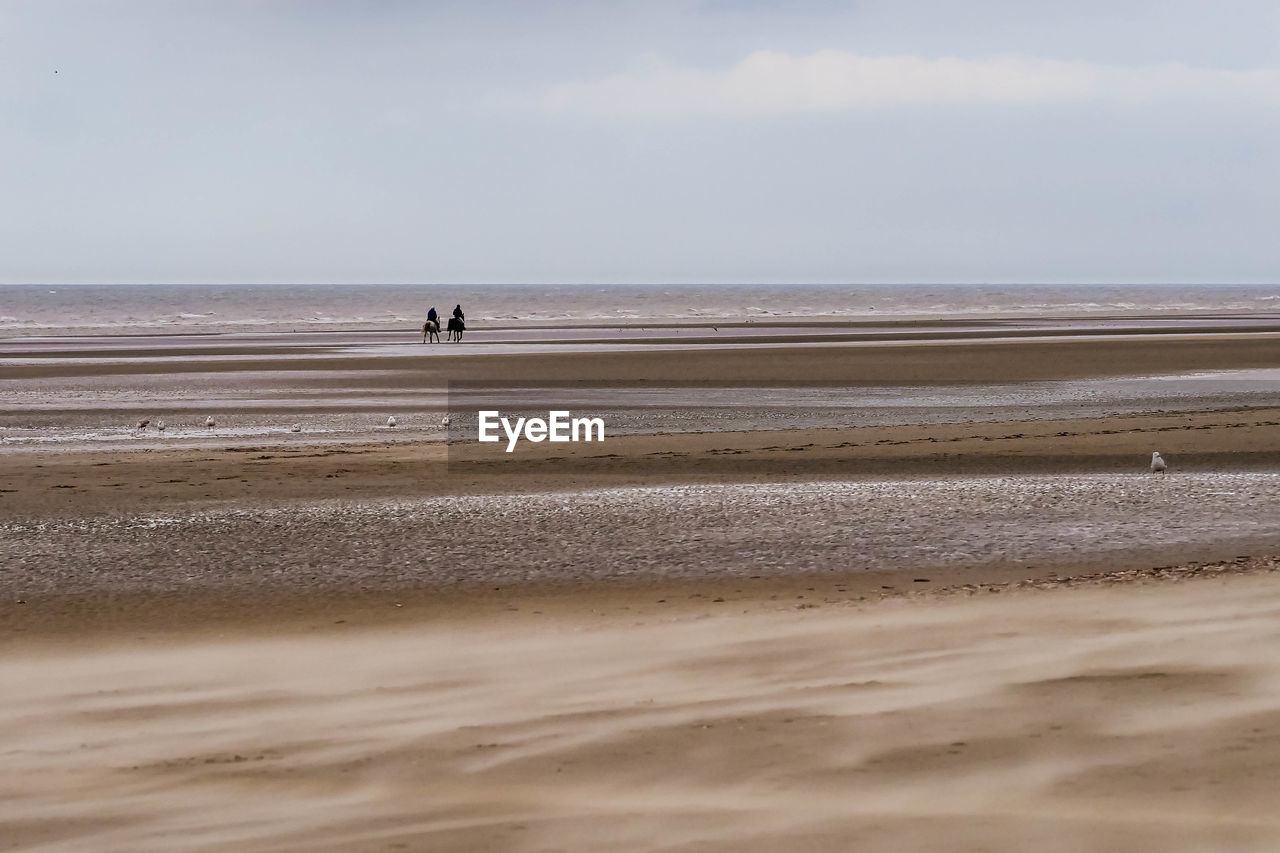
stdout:
<svg viewBox="0 0 1280 853">
<path fill-rule="evenodd" d="M 538 96 L 552 113 L 780 115 L 920 104 L 1042 104 L 1188 99 L 1280 101 L 1280 69 L 1221 70 L 1179 63 L 1125 68 L 1024 56 L 808 56 L 762 50 L 722 70 L 648 59 L 634 70 L 568 82 Z"/>
</svg>

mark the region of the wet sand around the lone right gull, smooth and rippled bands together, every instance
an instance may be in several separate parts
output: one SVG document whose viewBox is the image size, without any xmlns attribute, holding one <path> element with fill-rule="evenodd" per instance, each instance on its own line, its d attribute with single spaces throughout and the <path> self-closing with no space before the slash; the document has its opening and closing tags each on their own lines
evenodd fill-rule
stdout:
<svg viewBox="0 0 1280 853">
<path fill-rule="evenodd" d="M 1151 447 L 1172 466 L 1162 478 L 1146 473 Z M 426 615 L 613 587 L 717 597 L 744 580 L 856 597 L 908 574 L 1280 553 L 1277 447 L 1280 410 L 1242 410 L 511 456 L 440 442 L 8 453 L 3 634 L 237 625 L 346 597 Z"/>
</svg>

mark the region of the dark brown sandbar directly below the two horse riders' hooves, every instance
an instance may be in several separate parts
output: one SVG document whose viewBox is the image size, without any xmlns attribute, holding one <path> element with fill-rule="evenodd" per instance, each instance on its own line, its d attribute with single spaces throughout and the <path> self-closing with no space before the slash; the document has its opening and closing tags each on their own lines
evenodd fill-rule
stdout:
<svg viewBox="0 0 1280 853">
<path fill-rule="evenodd" d="M 987 334 L 987 333 L 980 333 Z M 1192 370 L 1276 368 L 1277 332 L 1188 333 L 1178 329 L 1149 334 L 1052 334 L 1020 330 L 973 339 L 937 338 L 829 341 L 826 336 L 774 336 L 771 339 L 718 342 L 621 342 L 609 348 L 590 341 L 566 341 L 568 351 L 503 351 L 503 345 L 420 345 L 404 339 L 378 346 L 270 347 L 156 347 L 113 350 L 102 357 L 77 360 L 74 350 L 49 357 L 9 352 L 5 370 L 15 380 L 74 380 L 78 378 L 140 379 L 157 374 L 236 374 L 285 371 L 298 378 L 357 371 L 364 387 L 385 387 L 388 378 L 406 388 L 440 388 L 448 382 L 509 383 L 572 387 L 687 384 L 728 386 L 841 386 L 883 383 L 1029 382 L 1092 377 L 1144 377 Z M 485 350 L 486 346 L 498 347 Z M 562 346 L 556 343 L 554 346 Z M 239 350 L 243 350 L 241 352 Z M 90 350 L 88 355 L 92 356 Z M 37 355 L 38 353 L 33 353 Z M 270 356 L 270 357 L 269 357 Z M 67 360 L 70 357 L 70 360 Z M 0 351 L 0 364 L 5 362 Z M 406 384 L 407 383 L 407 384 Z"/>
</svg>

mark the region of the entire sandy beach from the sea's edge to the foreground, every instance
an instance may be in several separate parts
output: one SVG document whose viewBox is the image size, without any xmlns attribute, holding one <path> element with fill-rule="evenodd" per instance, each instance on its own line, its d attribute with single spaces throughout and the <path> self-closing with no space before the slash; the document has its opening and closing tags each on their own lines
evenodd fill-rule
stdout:
<svg viewBox="0 0 1280 853">
<path fill-rule="evenodd" d="M 1274 323 L 8 338 L 0 838 L 1272 849 Z"/>
</svg>

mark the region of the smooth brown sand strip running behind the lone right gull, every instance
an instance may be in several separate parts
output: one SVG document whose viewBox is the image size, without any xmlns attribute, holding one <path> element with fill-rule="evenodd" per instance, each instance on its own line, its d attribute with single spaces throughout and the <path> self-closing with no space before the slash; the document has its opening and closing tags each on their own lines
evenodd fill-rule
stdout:
<svg viewBox="0 0 1280 853">
<path fill-rule="evenodd" d="M 1280 467 L 1280 407 L 1107 418 L 608 435 L 604 443 L 404 439 L 360 444 L 265 437 L 257 444 L 0 452 L 12 517 L 110 515 L 170 505 L 415 498 L 609 485 L 863 479 L 895 475 L 1140 474 L 1152 450 L 1176 470 Z M 443 437 L 443 433 L 442 433 Z M 275 439 L 275 441 L 271 441 Z M 141 447 L 140 447 L 141 446 Z"/>
</svg>

